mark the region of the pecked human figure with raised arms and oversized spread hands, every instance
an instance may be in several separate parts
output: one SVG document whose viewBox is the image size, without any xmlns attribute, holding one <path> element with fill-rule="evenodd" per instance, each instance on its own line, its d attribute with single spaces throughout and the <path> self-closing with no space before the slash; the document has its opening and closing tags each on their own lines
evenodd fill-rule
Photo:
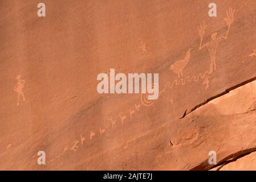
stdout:
<svg viewBox="0 0 256 182">
<path fill-rule="evenodd" d="M 226 35 L 225 36 L 220 36 L 219 38 L 217 38 L 217 32 L 214 32 L 211 35 L 212 40 L 206 44 L 204 44 L 202 46 L 202 39 L 204 38 L 205 35 L 205 31 L 206 31 L 206 23 L 203 21 L 200 26 L 197 27 L 199 36 L 200 36 L 200 46 L 199 46 L 199 50 L 201 50 L 204 47 L 207 47 L 209 55 L 210 55 L 210 68 L 209 71 L 210 73 L 214 71 L 216 71 L 216 53 L 217 53 L 217 48 L 218 48 L 218 44 L 222 41 L 222 40 L 226 40 L 227 36 L 229 35 L 229 30 L 231 27 L 231 24 L 233 24 L 234 22 L 234 13 L 235 10 L 233 10 L 232 8 L 229 8 L 229 10 L 226 11 L 227 17 L 225 18 L 226 24 L 227 24 L 227 31 L 226 31 Z"/>
</svg>

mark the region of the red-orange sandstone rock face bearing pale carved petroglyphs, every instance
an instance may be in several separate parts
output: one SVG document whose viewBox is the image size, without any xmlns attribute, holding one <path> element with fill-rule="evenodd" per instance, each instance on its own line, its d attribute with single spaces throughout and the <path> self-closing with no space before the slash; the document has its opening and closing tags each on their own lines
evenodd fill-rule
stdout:
<svg viewBox="0 0 256 182">
<path fill-rule="evenodd" d="M 37 3 L 0 2 L 0 169 L 255 169 L 255 1 Z M 110 68 L 159 99 L 97 93 Z"/>
</svg>

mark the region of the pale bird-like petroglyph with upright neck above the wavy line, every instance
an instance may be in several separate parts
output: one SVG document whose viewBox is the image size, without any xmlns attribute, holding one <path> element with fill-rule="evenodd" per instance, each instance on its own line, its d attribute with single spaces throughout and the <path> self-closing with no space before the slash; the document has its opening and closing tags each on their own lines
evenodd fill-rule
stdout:
<svg viewBox="0 0 256 182">
<path fill-rule="evenodd" d="M 182 60 L 175 61 L 174 64 L 170 65 L 170 70 L 173 71 L 178 75 L 178 78 L 182 77 L 182 71 L 188 64 L 190 60 L 190 51 L 192 48 L 189 48 L 188 51 L 186 52 L 186 56 Z"/>
</svg>

